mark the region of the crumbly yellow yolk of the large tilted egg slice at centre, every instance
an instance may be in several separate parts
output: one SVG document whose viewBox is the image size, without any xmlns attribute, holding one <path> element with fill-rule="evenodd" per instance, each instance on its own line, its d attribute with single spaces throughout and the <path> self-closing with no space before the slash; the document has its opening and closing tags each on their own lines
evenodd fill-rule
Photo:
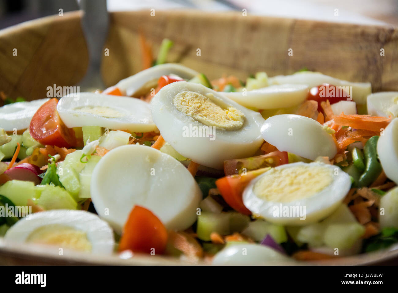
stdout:
<svg viewBox="0 0 398 293">
<path fill-rule="evenodd" d="M 173 104 L 177 110 L 206 126 L 222 130 L 242 128 L 244 114 L 232 106 L 215 104 L 214 98 L 212 93 L 205 96 L 199 92 L 183 91 L 174 96 Z"/>
</svg>

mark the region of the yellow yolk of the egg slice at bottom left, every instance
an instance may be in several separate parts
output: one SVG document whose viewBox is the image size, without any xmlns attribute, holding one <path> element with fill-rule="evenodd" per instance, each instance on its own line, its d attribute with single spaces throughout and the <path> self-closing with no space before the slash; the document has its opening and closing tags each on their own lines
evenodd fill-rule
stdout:
<svg viewBox="0 0 398 293">
<path fill-rule="evenodd" d="M 59 246 L 78 251 L 91 251 L 91 243 L 85 232 L 63 225 L 45 225 L 37 228 L 26 242 Z"/>
</svg>

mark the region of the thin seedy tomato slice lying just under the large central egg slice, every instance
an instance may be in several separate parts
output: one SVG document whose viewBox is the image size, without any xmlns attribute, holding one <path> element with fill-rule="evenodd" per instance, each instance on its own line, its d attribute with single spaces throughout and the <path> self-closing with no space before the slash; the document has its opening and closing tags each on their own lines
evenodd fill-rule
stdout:
<svg viewBox="0 0 398 293">
<path fill-rule="evenodd" d="M 224 161 L 225 175 L 233 175 L 242 173 L 242 169 L 252 171 L 264 167 L 276 167 L 289 163 L 287 151 L 273 151 L 265 155 L 244 159 L 231 159 Z"/>
</svg>

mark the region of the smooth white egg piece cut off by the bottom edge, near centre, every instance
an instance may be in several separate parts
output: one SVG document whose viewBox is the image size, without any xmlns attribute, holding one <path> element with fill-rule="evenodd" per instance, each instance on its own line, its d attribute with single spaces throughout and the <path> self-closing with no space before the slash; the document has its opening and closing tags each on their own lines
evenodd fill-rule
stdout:
<svg viewBox="0 0 398 293">
<path fill-rule="evenodd" d="M 227 246 L 217 253 L 213 265 L 280 265 L 295 261 L 268 246 L 242 243 Z"/>
</svg>

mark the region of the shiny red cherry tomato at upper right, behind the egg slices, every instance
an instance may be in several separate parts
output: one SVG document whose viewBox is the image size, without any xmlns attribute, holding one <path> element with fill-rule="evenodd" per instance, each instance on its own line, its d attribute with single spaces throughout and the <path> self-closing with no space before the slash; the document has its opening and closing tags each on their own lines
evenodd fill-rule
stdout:
<svg viewBox="0 0 398 293">
<path fill-rule="evenodd" d="M 322 112 L 321 102 L 329 100 L 330 104 L 334 104 L 340 101 L 346 101 L 347 96 L 343 88 L 336 87 L 335 85 L 329 85 L 327 83 L 313 87 L 308 92 L 307 100 L 314 100 L 318 102 L 318 111 Z"/>
</svg>

